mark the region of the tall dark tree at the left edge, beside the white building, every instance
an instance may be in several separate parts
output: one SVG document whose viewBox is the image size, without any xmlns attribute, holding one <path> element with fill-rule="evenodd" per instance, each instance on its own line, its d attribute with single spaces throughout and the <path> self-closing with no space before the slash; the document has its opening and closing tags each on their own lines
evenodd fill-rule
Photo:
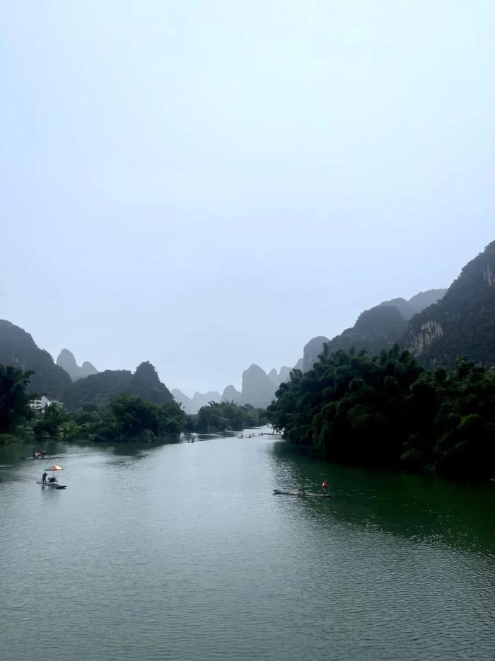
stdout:
<svg viewBox="0 0 495 661">
<path fill-rule="evenodd" d="M 0 364 L 0 434 L 13 432 L 28 418 L 28 389 L 31 372 Z"/>
</svg>

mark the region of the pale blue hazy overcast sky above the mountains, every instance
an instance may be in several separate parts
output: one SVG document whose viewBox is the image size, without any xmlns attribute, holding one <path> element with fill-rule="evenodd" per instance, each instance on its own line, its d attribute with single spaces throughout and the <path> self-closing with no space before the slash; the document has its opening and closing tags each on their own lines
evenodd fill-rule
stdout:
<svg viewBox="0 0 495 661">
<path fill-rule="evenodd" d="M 0 318 L 240 387 L 495 239 L 491 0 L 17 0 Z"/>
</svg>

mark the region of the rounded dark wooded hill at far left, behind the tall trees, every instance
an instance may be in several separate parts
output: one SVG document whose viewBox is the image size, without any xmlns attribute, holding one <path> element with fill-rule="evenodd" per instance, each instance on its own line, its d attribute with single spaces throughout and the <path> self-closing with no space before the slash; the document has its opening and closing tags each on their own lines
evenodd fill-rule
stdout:
<svg viewBox="0 0 495 661">
<path fill-rule="evenodd" d="M 0 320 L 0 363 L 32 372 L 27 391 L 59 398 L 70 385 L 69 374 L 53 362 L 47 351 L 37 347 L 29 333 Z"/>
</svg>

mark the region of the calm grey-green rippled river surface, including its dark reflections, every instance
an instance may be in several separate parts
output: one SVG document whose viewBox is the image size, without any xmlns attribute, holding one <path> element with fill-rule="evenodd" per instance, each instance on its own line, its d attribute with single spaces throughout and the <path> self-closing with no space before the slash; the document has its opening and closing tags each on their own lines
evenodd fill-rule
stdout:
<svg viewBox="0 0 495 661">
<path fill-rule="evenodd" d="M 495 483 L 266 436 L 30 451 L 0 450 L 2 661 L 495 657 Z M 53 461 L 64 491 L 36 484 Z"/>
</svg>

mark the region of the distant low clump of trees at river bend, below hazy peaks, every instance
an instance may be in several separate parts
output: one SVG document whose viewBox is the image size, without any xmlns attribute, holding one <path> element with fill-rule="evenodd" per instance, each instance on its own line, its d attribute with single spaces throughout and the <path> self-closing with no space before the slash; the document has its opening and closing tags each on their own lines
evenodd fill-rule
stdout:
<svg viewBox="0 0 495 661">
<path fill-rule="evenodd" d="M 223 432 L 258 427 L 267 422 L 267 411 L 251 404 L 240 406 L 234 402 L 209 402 L 197 415 L 190 416 L 188 428 L 195 432 Z"/>
</svg>

